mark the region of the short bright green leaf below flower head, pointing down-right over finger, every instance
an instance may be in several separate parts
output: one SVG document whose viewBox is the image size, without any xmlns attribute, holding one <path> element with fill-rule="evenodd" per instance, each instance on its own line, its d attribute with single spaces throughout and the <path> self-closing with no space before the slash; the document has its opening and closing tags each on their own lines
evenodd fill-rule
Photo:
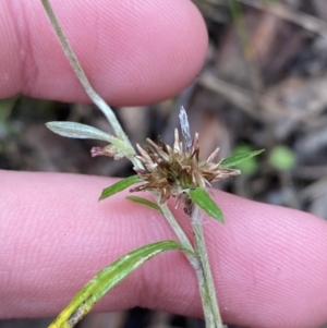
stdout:
<svg viewBox="0 0 327 328">
<path fill-rule="evenodd" d="M 205 190 L 196 187 L 194 190 L 190 190 L 189 195 L 192 201 L 210 217 L 223 223 L 222 211 Z"/>
</svg>

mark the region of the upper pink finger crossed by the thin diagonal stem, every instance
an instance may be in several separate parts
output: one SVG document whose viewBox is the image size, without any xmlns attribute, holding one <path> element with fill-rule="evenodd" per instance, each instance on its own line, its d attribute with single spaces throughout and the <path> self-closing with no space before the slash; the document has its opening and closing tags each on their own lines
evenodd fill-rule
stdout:
<svg viewBox="0 0 327 328">
<path fill-rule="evenodd" d="M 12 3 L 4 1 L 4 11 L 14 12 L 9 11 Z M 201 70 L 207 33 L 199 12 L 190 1 L 53 0 L 51 4 L 90 83 L 113 106 L 171 97 Z M 11 49 L 1 47 L 5 62 L 2 61 L 0 70 L 10 68 L 7 73 L 11 82 L 2 81 L 1 96 L 23 93 L 63 101 L 88 101 L 40 3 L 24 1 L 19 8 L 15 11 L 26 28 L 10 29 L 9 34 L 19 34 L 19 42 Z M 5 20 L 9 17 L 4 15 Z M 25 53 L 23 61 L 9 56 L 17 51 Z M 22 76 L 19 82 L 17 76 Z"/>
</svg>

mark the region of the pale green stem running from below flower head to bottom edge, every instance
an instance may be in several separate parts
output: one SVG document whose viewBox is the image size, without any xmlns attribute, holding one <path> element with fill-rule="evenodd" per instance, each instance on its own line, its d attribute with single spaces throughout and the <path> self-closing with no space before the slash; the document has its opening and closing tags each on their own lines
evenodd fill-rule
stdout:
<svg viewBox="0 0 327 328">
<path fill-rule="evenodd" d="M 218 300 L 216 295 L 216 289 L 213 280 L 213 275 L 210 270 L 210 265 L 208 260 L 207 250 L 203 233 L 203 211 L 202 209 L 194 205 L 192 217 L 191 217 L 192 228 L 194 232 L 195 240 L 195 252 L 198 255 L 199 262 L 202 264 L 204 280 L 207 287 L 210 312 L 213 313 L 214 320 L 217 328 L 223 328 L 222 319 L 219 312 Z"/>
</svg>

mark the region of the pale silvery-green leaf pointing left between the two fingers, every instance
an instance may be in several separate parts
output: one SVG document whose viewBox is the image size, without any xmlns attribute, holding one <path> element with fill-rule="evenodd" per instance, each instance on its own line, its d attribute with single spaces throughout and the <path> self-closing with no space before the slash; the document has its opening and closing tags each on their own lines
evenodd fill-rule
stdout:
<svg viewBox="0 0 327 328">
<path fill-rule="evenodd" d="M 65 137 L 98 139 L 109 143 L 114 138 L 101 130 L 76 122 L 48 122 L 46 125 L 52 132 Z"/>
</svg>

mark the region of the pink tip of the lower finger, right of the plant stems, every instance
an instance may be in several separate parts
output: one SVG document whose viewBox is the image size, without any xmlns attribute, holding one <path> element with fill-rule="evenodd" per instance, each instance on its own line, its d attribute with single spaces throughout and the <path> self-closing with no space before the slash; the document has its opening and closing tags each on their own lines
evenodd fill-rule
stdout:
<svg viewBox="0 0 327 328">
<path fill-rule="evenodd" d="M 206 236 L 225 320 L 261 328 L 325 324 L 327 222 L 226 193 L 217 202 L 226 224 L 215 230 L 208 222 Z"/>
</svg>

